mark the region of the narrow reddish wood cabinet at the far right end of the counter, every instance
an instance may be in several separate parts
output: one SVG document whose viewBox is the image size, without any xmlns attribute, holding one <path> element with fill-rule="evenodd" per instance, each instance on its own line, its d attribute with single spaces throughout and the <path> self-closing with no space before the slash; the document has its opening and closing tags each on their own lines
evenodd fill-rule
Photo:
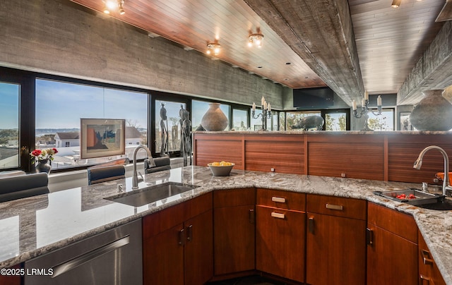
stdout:
<svg viewBox="0 0 452 285">
<path fill-rule="evenodd" d="M 430 250 L 419 232 L 419 284 L 420 285 L 446 285 L 441 272 L 439 272 Z"/>
</svg>

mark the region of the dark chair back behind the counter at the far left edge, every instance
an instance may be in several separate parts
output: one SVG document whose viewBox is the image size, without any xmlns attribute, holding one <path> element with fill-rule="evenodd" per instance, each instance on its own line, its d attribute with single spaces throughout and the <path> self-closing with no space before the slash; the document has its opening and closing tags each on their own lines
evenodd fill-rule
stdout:
<svg viewBox="0 0 452 285">
<path fill-rule="evenodd" d="M 49 193 L 46 173 L 0 178 L 0 202 Z"/>
</svg>

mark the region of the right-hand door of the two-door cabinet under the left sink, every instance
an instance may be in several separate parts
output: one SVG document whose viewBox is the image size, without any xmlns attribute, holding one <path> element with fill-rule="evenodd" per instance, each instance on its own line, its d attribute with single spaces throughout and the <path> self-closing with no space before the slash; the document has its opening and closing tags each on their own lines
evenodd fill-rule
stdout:
<svg viewBox="0 0 452 285">
<path fill-rule="evenodd" d="M 205 284 L 213 276 L 212 210 L 184 223 L 185 284 Z"/>
</svg>

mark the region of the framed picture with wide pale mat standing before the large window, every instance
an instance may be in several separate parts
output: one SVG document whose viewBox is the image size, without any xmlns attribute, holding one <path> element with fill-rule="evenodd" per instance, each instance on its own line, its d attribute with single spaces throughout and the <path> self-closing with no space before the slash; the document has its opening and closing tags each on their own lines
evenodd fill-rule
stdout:
<svg viewBox="0 0 452 285">
<path fill-rule="evenodd" d="M 126 152 L 125 119 L 80 119 L 81 159 Z"/>
</svg>

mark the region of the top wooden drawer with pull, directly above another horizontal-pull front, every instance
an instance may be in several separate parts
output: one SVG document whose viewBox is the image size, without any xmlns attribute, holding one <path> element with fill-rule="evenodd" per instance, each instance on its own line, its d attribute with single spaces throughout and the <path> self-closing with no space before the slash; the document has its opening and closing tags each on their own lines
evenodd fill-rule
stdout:
<svg viewBox="0 0 452 285">
<path fill-rule="evenodd" d="M 306 210 L 306 194 L 258 188 L 256 205 L 304 211 Z"/>
</svg>

